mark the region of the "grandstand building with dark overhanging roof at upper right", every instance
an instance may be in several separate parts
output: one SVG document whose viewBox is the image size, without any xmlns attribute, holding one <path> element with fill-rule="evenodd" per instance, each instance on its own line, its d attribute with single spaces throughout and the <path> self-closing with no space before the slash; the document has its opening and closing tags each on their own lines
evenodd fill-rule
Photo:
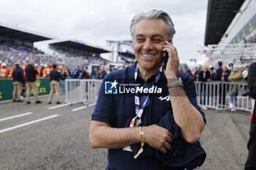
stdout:
<svg viewBox="0 0 256 170">
<path fill-rule="evenodd" d="M 240 66 L 256 61 L 256 0 L 208 0 L 206 57 Z"/>
</svg>

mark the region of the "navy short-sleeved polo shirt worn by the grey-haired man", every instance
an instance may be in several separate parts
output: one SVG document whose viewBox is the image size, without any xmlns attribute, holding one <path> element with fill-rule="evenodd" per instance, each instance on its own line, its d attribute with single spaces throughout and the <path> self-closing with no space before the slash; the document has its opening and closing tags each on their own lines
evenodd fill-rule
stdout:
<svg viewBox="0 0 256 170">
<path fill-rule="evenodd" d="M 137 81 L 135 82 L 135 65 L 126 67 L 118 71 L 110 72 L 106 74 L 102 85 L 99 89 L 99 96 L 97 104 L 92 114 L 91 120 L 97 120 L 104 123 L 108 123 L 112 128 L 127 128 L 132 118 L 135 117 L 135 95 L 134 93 L 121 93 L 126 88 L 134 88 L 134 84 L 138 83 L 144 86 L 145 83 L 151 83 L 154 81 L 154 76 L 150 77 L 147 82 L 138 75 Z M 199 110 L 203 119 L 205 120 L 204 113 L 200 111 L 200 107 L 197 105 L 195 83 L 193 78 L 184 72 L 178 72 L 178 77 L 184 83 L 184 90 L 189 98 L 189 101 L 193 106 Z M 116 94 L 107 94 L 108 84 L 111 82 L 118 82 L 116 88 L 113 91 L 117 91 Z M 159 81 L 157 82 L 157 88 L 162 88 L 162 93 L 152 93 L 149 96 L 149 104 L 145 107 L 143 115 L 141 117 L 141 125 L 153 125 L 159 124 L 162 117 L 169 111 L 173 112 L 170 104 L 170 96 L 167 89 L 167 80 L 164 72 L 162 72 Z M 110 85 L 111 86 L 111 85 Z M 139 94 L 140 98 L 145 94 Z M 144 146 L 145 147 L 145 146 Z M 143 148 L 144 148 L 143 147 Z M 146 152 L 143 151 L 143 154 Z M 155 155 L 147 155 L 140 157 L 135 160 L 133 158 L 134 153 L 124 151 L 123 148 L 109 149 L 108 150 L 108 166 L 106 169 L 171 169 L 155 158 Z"/>
</svg>

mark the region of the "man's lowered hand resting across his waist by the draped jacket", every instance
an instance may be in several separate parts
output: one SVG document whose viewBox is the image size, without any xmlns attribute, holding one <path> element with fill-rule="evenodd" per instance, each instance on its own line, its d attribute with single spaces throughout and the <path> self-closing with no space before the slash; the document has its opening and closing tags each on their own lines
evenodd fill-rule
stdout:
<svg viewBox="0 0 256 170">
<path fill-rule="evenodd" d="M 172 142 L 173 135 L 166 128 L 162 128 L 159 125 L 149 125 L 144 127 L 144 131 L 144 141 L 151 147 L 163 153 L 166 153 L 167 150 L 172 150 L 170 142 Z"/>
</svg>

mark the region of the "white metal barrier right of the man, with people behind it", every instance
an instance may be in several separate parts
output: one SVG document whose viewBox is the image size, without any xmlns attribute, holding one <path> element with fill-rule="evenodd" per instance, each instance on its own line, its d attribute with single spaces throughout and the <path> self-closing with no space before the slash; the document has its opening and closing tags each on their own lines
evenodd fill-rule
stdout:
<svg viewBox="0 0 256 170">
<path fill-rule="evenodd" d="M 247 82 L 195 82 L 195 87 L 201 107 L 251 111 L 251 98 L 244 96 Z"/>
</svg>

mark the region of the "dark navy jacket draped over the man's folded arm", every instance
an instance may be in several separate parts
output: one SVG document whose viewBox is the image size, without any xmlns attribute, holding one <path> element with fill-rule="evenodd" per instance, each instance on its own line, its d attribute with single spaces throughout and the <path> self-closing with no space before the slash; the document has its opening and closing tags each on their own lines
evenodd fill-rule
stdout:
<svg viewBox="0 0 256 170">
<path fill-rule="evenodd" d="M 165 166 L 171 168 L 182 167 L 195 169 L 197 166 L 203 164 L 206 159 L 206 152 L 203 150 L 203 147 L 201 147 L 200 142 L 188 144 L 184 141 L 181 136 L 181 128 L 176 124 L 173 114 L 171 114 L 170 111 L 162 117 L 158 125 L 162 128 L 167 128 L 167 130 L 173 134 L 171 142 L 172 152 L 167 150 L 167 153 L 163 154 L 159 150 L 155 150 L 146 144 L 143 147 L 143 152 L 139 155 L 140 158 L 155 155 Z M 140 144 L 132 144 L 131 147 L 134 155 L 140 150 Z"/>
</svg>

